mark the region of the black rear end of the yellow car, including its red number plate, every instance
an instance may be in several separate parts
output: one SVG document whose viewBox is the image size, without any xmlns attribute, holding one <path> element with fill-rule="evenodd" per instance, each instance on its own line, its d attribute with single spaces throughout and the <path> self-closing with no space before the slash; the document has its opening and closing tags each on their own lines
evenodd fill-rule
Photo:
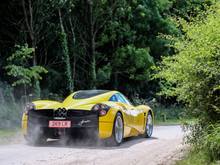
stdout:
<svg viewBox="0 0 220 165">
<path fill-rule="evenodd" d="M 25 136 L 61 138 L 62 136 L 97 137 L 99 116 L 95 111 L 59 108 L 29 110 L 24 113 Z"/>
</svg>

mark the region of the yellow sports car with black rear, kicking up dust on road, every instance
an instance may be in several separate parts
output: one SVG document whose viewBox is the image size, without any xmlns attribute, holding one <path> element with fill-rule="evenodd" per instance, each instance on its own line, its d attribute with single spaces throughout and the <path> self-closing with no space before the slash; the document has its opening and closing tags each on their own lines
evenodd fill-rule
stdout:
<svg viewBox="0 0 220 165">
<path fill-rule="evenodd" d="M 149 106 L 133 106 L 118 91 L 81 90 L 63 102 L 39 100 L 27 104 L 22 131 L 33 144 L 84 134 L 119 145 L 126 137 L 151 137 L 153 118 Z"/>
</svg>

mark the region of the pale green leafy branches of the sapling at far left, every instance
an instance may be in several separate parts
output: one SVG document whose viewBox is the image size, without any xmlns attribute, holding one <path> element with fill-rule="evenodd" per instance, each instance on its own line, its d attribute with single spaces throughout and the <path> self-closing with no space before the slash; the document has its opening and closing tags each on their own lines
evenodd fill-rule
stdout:
<svg viewBox="0 0 220 165">
<path fill-rule="evenodd" d="M 31 86 L 33 82 L 40 80 L 40 74 L 47 73 L 47 70 L 42 66 L 29 67 L 28 60 L 32 58 L 33 49 L 28 48 L 28 45 L 16 46 L 16 51 L 8 57 L 8 65 L 5 67 L 8 76 L 15 80 L 12 86 L 27 85 Z"/>
</svg>

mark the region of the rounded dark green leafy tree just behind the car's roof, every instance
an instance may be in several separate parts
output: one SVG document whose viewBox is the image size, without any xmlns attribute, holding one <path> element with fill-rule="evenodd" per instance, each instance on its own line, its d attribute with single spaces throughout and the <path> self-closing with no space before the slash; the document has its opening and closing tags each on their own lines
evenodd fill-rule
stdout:
<svg viewBox="0 0 220 165">
<path fill-rule="evenodd" d="M 112 60 L 113 73 L 120 77 L 120 84 L 115 82 L 116 88 L 127 91 L 127 94 L 130 95 L 137 92 L 141 93 L 141 89 L 150 80 L 150 68 L 153 65 L 154 61 L 148 48 L 136 48 L 133 45 L 127 45 L 117 49 Z M 129 83 L 126 84 L 125 82 Z"/>
</svg>

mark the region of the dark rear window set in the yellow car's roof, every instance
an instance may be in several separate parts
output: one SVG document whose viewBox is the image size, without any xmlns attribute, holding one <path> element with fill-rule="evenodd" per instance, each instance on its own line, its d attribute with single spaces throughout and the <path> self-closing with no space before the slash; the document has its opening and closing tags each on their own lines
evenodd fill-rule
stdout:
<svg viewBox="0 0 220 165">
<path fill-rule="evenodd" d="M 109 92 L 108 90 L 82 90 L 73 95 L 73 99 L 87 99 Z"/>
</svg>

